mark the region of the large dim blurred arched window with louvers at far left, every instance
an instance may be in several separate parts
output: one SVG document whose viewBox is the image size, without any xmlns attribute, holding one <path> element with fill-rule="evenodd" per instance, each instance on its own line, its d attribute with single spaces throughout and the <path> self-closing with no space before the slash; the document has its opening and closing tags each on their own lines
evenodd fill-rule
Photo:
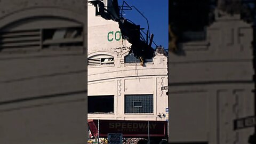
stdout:
<svg viewBox="0 0 256 144">
<path fill-rule="evenodd" d="M 59 17 L 22 19 L 0 30 L 0 51 L 83 46 L 81 23 Z"/>
</svg>

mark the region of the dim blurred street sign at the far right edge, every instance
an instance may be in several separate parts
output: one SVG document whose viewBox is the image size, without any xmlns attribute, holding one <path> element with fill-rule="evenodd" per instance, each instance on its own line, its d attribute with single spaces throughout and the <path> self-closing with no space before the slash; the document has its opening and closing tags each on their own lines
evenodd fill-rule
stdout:
<svg viewBox="0 0 256 144">
<path fill-rule="evenodd" d="M 239 118 L 234 120 L 234 130 L 244 129 L 247 127 L 253 127 L 255 123 L 256 116 L 249 116 L 244 118 Z"/>
</svg>

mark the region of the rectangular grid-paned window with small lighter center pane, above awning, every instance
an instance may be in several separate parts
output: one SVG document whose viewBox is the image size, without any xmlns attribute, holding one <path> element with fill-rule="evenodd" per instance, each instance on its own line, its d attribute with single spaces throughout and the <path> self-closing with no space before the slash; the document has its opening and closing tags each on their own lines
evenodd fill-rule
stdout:
<svg viewBox="0 0 256 144">
<path fill-rule="evenodd" d="M 125 114 L 153 113 L 153 94 L 125 95 Z"/>
</svg>

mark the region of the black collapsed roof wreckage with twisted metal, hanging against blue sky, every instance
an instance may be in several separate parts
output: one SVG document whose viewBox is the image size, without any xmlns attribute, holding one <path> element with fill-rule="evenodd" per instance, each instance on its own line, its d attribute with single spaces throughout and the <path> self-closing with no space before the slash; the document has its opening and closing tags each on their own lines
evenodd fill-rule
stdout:
<svg viewBox="0 0 256 144">
<path fill-rule="evenodd" d="M 143 33 L 141 33 L 142 29 L 140 28 L 140 25 L 136 25 L 132 21 L 124 18 L 121 14 L 124 8 L 127 9 L 128 7 L 128 9 L 131 10 L 134 6 L 129 6 L 126 2 L 124 2 L 126 6 L 124 6 L 124 3 L 122 6 L 118 6 L 117 0 L 104 2 L 94 0 L 88 2 L 92 3 L 96 7 L 96 15 L 100 15 L 102 18 L 107 20 L 118 22 L 122 37 L 132 44 L 130 53 L 133 52 L 134 56 L 138 59 L 142 59 L 142 61 L 154 57 L 155 50 L 151 46 L 154 35 L 150 35 L 148 30 L 147 34 L 145 33 L 145 38 Z"/>
</svg>

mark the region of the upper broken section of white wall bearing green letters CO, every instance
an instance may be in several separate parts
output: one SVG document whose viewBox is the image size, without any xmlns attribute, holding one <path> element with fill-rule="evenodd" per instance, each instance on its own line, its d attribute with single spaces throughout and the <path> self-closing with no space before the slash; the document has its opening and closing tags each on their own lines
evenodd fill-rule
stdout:
<svg viewBox="0 0 256 144">
<path fill-rule="evenodd" d="M 131 44 L 121 36 L 118 22 L 95 15 L 95 6 L 88 3 L 88 54 L 97 51 L 113 51 Z"/>
</svg>

